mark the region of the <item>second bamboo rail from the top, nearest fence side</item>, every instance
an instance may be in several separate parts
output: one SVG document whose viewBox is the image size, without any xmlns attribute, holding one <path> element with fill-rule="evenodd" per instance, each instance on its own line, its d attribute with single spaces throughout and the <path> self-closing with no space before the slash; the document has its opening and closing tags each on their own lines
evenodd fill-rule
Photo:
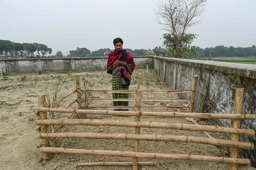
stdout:
<svg viewBox="0 0 256 170">
<path fill-rule="evenodd" d="M 231 134 L 244 134 L 254 136 L 253 129 L 227 128 L 213 125 L 190 125 L 184 123 L 159 123 L 151 121 L 121 121 L 121 120 L 98 120 L 98 119 L 37 119 L 37 125 L 99 125 L 99 126 L 118 126 L 118 127 L 134 127 L 134 128 L 161 128 L 175 130 L 190 131 L 206 131 Z"/>
</svg>

